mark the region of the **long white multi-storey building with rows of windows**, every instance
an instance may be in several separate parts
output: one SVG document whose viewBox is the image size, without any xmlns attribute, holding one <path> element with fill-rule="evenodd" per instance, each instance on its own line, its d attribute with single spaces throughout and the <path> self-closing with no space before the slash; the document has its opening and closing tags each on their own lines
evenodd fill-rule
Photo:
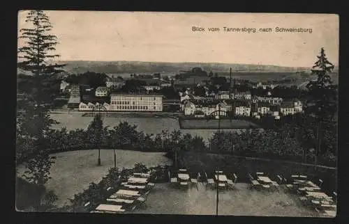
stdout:
<svg viewBox="0 0 349 224">
<path fill-rule="evenodd" d="M 163 111 L 162 95 L 110 95 L 111 111 Z"/>
</svg>

